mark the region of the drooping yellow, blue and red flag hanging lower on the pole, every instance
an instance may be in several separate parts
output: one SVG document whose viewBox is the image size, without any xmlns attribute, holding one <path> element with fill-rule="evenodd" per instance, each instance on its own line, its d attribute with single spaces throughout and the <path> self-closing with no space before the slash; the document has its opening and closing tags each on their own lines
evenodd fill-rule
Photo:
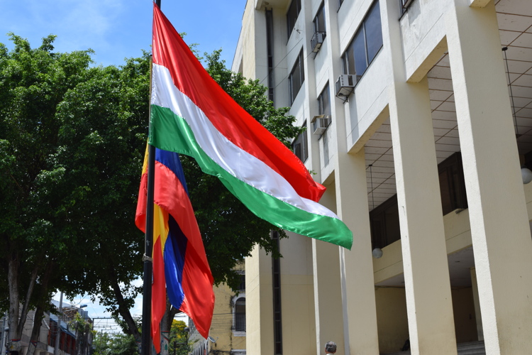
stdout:
<svg viewBox="0 0 532 355">
<path fill-rule="evenodd" d="M 146 226 L 148 149 L 137 204 L 135 224 Z M 179 155 L 155 149 L 153 211 L 152 339 L 160 352 L 160 322 L 170 303 L 194 320 L 203 337 L 209 336 L 214 310 L 214 283 L 189 200 Z"/>
</svg>

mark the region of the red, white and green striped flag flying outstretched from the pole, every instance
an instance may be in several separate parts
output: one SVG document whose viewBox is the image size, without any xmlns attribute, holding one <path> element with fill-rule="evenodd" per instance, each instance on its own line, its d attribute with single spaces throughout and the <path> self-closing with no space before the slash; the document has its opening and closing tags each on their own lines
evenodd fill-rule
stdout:
<svg viewBox="0 0 532 355">
<path fill-rule="evenodd" d="M 350 249 L 351 231 L 318 203 L 325 187 L 218 86 L 154 6 L 148 143 L 195 158 L 257 217 Z"/>
</svg>

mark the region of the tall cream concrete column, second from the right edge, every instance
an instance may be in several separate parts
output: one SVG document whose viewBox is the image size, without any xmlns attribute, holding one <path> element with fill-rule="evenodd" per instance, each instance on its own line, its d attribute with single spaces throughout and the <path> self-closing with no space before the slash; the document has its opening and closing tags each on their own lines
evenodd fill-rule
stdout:
<svg viewBox="0 0 532 355">
<path fill-rule="evenodd" d="M 406 82 L 399 10 L 395 1 L 381 4 L 394 77 L 389 112 L 411 354 L 456 354 L 428 82 Z"/>
</svg>

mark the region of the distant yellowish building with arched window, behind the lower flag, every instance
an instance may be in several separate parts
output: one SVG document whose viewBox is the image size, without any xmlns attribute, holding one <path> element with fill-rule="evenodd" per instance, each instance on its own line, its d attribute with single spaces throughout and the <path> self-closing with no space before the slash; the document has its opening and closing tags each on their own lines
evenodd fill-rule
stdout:
<svg viewBox="0 0 532 355">
<path fill-rule="evenodd" d="M 237 268 L 241 283 L 238 295 L 226 284 L 214 288 L 214 315 L 210 339 L 199 335 L 189 320 L 193 355 L 245 355 L 245 271 L 243 263 Z"/>
</svg>

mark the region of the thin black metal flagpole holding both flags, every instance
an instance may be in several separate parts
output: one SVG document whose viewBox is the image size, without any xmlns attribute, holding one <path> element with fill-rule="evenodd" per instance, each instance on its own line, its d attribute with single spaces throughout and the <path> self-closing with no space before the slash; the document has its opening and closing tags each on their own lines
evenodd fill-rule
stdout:
<svg viewBox="0 0 532 355">
<path fill-rule="evenodd" d="M 161 0 L 155 0 L 157 6 L 161 6 Z M 150 63 L 150 100 L 151 100 L 151 63 Z M 150 102 L 151 117 L 151 102 Z M 149 130 L 149 129 L 148 129 Z M 148 196 L 146 203 L 146 232 L 145 232 L 145 255 L 144 255 L 144 279 L 143 279 L 143 320 L 142 320 L 142 343 L 141 355 L 150 355 L 150 334 L 152 318 L 152 277 L 153 277 L 153 190 L 155 182 L 155 146 L 148 144 Z"/>
</svg>

